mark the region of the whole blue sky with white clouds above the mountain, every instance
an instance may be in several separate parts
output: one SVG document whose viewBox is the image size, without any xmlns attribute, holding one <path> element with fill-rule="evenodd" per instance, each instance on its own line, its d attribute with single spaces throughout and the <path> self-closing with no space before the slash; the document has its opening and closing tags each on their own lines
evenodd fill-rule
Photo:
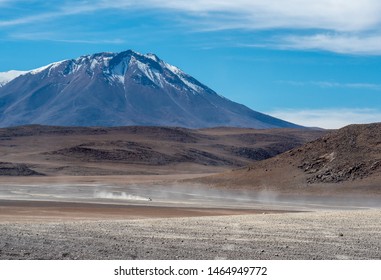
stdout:
<svg viewBox="0 0 381 280">
<path fill-rule="evenodd" d="M 127 49 L 299 124 L 381 121 L 379 0 L 0 0 L 0 71 Z"/>
</svg>

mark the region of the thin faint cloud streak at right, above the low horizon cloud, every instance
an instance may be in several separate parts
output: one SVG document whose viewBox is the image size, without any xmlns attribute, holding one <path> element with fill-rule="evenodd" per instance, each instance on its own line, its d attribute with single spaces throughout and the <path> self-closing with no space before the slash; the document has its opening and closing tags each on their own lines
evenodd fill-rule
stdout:
<svg viewBox="0 0 381 280">
<path fill-rule="evenodd" d="M 366 89 L 381 91 L 381 84 L 374 83 L 339 83 L 331 81 L 277 81 L 281 84 L 287 84 L 297 87 L 316 86 L 320 88 L 348 88 L 348 89 Z"/>
</svg>

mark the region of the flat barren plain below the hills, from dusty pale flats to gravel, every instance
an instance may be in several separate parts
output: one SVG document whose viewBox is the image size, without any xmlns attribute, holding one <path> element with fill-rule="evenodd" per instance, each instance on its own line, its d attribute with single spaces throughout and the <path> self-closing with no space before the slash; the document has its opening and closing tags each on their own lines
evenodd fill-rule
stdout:
<svg viewBox="0 0 381 280">
<path fill-rule="evenodd" d="M 3 184 L 0 259 L 381 258 L 379 200 L 133 181 Z"/>
</svg>

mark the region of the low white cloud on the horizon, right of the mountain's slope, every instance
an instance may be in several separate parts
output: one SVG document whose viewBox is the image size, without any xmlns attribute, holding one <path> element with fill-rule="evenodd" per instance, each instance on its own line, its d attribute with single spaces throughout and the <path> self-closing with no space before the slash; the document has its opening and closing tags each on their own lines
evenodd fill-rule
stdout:
<svg viewBox="0 0 381 280">
<path fill-rule="evenodd" d="M 269 115 L 308 127 L 336 129 L 349 124 L 381 122 L 381 111 L 375 109 L 288 109 Z"/>
</svg>

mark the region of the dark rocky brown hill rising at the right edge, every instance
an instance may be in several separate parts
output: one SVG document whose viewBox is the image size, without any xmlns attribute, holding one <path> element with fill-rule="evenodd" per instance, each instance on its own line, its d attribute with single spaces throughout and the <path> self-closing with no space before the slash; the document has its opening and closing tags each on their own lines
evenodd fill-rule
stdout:
<svg viewBox="0 0 381 280">
<path fill-rule="evenodd" d="M 350 125 L 204 183 L 280 193 L 381 195 L 381 123 Z"/>
</svg>

